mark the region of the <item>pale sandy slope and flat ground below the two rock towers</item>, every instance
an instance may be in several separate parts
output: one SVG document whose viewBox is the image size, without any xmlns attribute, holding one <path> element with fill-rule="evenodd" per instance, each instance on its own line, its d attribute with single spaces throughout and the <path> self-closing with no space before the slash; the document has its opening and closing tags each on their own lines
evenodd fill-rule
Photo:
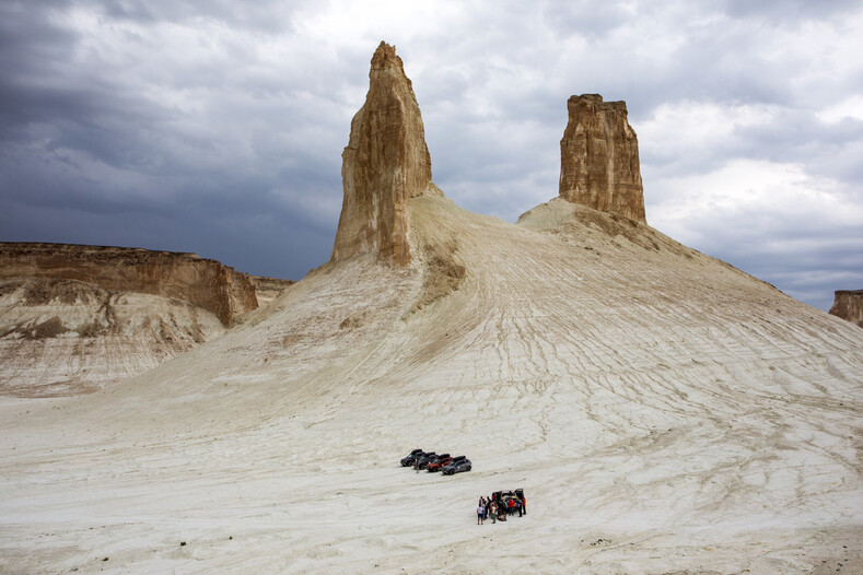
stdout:
<svg viewBox="0 0 863 575">
<path fill-rule="evenodd" d="M 3 399 L 0 571 L 863 571 L 863 330 L 560 200 L 415 198 L 411 233 L 442 267 L 329 265 L 113 389 Z"/>
</svg>

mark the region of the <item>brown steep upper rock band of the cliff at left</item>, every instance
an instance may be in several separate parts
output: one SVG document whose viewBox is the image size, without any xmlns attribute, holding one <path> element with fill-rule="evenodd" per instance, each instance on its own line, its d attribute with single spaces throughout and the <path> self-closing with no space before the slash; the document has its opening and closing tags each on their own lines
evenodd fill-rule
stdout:
<svg viewBox="0 0 863 575">
<path fill-rule="evenodd" d="M 0 279 L 77 280 L 105 290 L 174 297 L 224 326 L 258 306 L 248 275 L 195 254 L 70 244 L 0 243 Z"/>
</svg>

